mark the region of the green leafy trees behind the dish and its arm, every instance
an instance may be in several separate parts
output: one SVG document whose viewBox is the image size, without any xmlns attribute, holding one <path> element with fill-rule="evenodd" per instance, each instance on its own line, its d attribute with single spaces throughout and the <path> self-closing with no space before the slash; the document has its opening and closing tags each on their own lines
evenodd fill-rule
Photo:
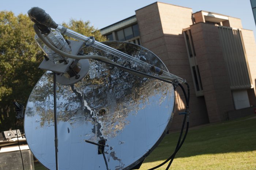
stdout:
<svg viewBox="0 0 256 170">
<path fill-rule="evenodd" d="M 0 132 L 14 129 L 14 101 L 26 105 L 30 92 L 43 70 L 38 66 L 43 52 L 34 40 L 33 22 L 27 15 L 0 11 Z M 106 40 L 89 21 L 71 20 L 63 23 L 86 36 L 95 36 L 98 41 Z M 19 120 L 18 129 L 22 126 Z"/>
</svg>

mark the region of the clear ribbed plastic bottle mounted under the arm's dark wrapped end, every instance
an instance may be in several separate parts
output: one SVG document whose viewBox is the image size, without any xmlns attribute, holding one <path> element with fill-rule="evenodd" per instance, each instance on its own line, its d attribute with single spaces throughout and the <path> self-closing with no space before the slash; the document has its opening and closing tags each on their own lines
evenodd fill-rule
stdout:
<svg viewBox="0 0 256 170">
<path fill-rule="evenodd" d="M 50 33 L 43 34 L 43 36 L 56 48 L 59 50 L 69 53 L 71 52 L 71 48 L 69 47 L 68 43 L 65 41 L 63 36 L 59 31 L 56 31 L 55 29 L 51 29 Z M 38 46 L 44 51 L 46 56 L 48 56 L 49 60 L 52 61 L 55 64 L 59 64 L 60 60 L 63 60 L 64 57 L 60 54 L 52 51 L 49 47 L 47 47 L 44 42 L 35 35 L 35 41 L 37 42 Z"/>
</svg>

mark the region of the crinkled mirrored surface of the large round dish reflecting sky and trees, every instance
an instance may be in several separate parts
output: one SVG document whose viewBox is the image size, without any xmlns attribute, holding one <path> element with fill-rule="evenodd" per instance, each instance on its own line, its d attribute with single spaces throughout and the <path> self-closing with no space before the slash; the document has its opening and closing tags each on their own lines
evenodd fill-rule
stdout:
<svg viewBox="0 0 256 170">
<path fill-rule="evenodd" d="M 108 46 L 167 71 L 161 60 L 136 44 L 107 41 Z M 151 74 L 135 64 L 92 47 L 84 54 L 106 56 L 118 64 Z M 53 76 L 39 79 L 25 112 L 25 135 L 34 156 L 55 169 Z M 161 141 L 172 121 L 172 84 L 129 74 L 114 66 L 90 60 L 82 81 L 57 83 L 59 169 L 131 169 Z M 105 142 L 103 153 L 94 143 Z"/>
</svg>

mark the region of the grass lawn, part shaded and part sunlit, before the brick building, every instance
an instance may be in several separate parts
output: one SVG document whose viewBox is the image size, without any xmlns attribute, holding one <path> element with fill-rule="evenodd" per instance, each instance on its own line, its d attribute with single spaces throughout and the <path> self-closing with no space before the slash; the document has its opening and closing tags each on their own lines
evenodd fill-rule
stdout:
<svg viewBox="0 0 256 170">
<path fill-rule="evenodd" d="M 165 161 L 173 153 L 178 135 L 166 135 L 140 170 Z M 170 169 L 256 169 L 256 119 L 247 117 L 189 130 Z"/>
</svg>

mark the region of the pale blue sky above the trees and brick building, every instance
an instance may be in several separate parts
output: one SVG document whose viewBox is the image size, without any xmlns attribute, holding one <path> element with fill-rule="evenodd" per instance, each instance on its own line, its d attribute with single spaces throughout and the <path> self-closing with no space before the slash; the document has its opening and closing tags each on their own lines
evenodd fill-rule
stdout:
<svg viewBox="0 0 256 170">
<path fill-rule="evenodd" d="M 52 16 L 57 24 L 70 19 L 89 20 L 101 29 L 127 17 L 157 0 L 2 0 L 0 11 L 12 11 L 15 15 L 26 14 L 31 7 L 40 7 Z M 192 8 L 193 12 L 209 11 L 237 17 L 244 29 L 256 35 L 250 0 L 159 0 L 159 2 Z"/>
</svg>

